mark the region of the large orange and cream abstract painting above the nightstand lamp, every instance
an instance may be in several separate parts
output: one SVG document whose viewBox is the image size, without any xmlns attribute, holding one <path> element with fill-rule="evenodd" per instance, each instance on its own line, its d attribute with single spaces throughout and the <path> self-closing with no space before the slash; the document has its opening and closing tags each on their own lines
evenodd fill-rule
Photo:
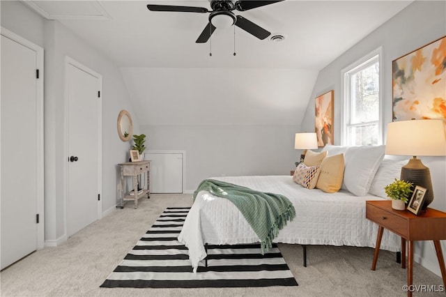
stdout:
<svg viewBox="0 0 446 297">
<path fill-rule="evenodd" d="M 446 121 L 446 36 L 392 61 L 392 121 Z"/>
</svg>

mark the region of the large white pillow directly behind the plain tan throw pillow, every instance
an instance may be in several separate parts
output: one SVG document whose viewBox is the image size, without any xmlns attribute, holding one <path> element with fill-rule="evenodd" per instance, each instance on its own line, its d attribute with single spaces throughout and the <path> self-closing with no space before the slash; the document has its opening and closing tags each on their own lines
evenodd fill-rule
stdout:
<svg viewBox="0 0 446 297">
<path fill-rule="evenodd" d="M 330 151 L 328 152 L 330 154 Z M 365 196 L 384 158 L 385 146 L 350 146 L 344 153 L 342 188 L 353 195 Z M 344 188 L 345 187 L 345 188 Z"/>
</svg>

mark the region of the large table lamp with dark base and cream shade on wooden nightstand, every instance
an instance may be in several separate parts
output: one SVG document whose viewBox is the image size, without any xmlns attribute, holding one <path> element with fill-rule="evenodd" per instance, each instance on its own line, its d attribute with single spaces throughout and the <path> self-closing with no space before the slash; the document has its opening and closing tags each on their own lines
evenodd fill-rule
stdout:
<svg viewBox="0 0 446 297">
<path fill-rule="evenodd" d="M 445 128 L 442 120 L 396 121 L 387 124 L 385 153 L 388 155 L 412 155 L 401 168 L 402 181 L 426 188 L 422 209 L 433 201 L 431 172 L 424 166 L 419 155 L 446 155 Z"/>
</svg>

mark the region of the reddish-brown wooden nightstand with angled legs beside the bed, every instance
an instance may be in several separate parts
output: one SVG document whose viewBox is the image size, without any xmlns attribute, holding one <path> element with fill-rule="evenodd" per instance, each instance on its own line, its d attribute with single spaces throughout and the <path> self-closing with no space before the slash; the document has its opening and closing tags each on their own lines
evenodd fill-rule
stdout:
<svg viewBox="0 0 446 297">
<path fill-rule="evenodd" d="M 406 268 L 406 241 L 408 242 L 408 271 L 407 284 L 413 282 L 413 242 L 414 241 L 433 241 L 437 253 L 438 264 L 443 277 L 443 284 L 446 287 L 446 269 L 443 251 L 441 250 L 440 240 L 446 239 L 446 213 L 427 208 L 420 215 L 414 215 L 408 211 L 395 211 L 392 209 L 392 201 L 367 201 L 366 218 L 379 225 L 378 236 L 376 238 L 376 248 L 374 261 L 371 264 L 371 270 L 376 268 L 378 253 L 383 237 L 384 228 L 401 236 L 401 266 Z M 412 292 L 408 291 L 408 296 Z"/>
</svg>

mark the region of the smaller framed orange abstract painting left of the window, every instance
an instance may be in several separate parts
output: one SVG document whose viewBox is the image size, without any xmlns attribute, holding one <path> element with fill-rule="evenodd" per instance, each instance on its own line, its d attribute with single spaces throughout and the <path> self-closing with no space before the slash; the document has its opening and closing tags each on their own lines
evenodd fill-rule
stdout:
<svg viewBox="0 0 446 297">
<path fill-rule="evenodd" d="M 328 91 L 315 100 L 315 132 L 318 146 L 333 144 L 333 94 Z"/>
</svg>

